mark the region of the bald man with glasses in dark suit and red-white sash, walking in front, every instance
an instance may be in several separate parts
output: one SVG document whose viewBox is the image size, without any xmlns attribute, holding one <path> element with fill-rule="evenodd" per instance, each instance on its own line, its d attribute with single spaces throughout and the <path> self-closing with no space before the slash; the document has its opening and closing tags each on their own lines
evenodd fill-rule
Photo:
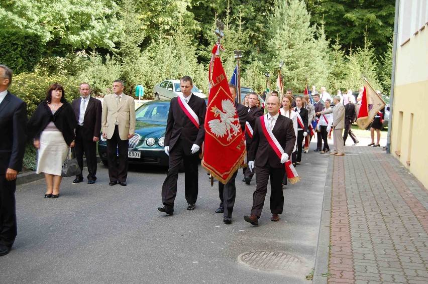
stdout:
<svg viewBox="0 0 428 284">
<path fill-rule="evenodd" d="M 281 158 L 274 149 L 274 147 L 277 146 L 271 145 L 264 133 L 263 127 L 265 124 L 262 125 L 261 119 L 257 119 L 254 127 L 253 143 L 248 155 L 248 159 L 250 160 L 250 162 L 248 162 L 248 168 L 252 169 L 254 165 L 256 166 L 257 188 L 253 194 L 251 215 L 244 216 L 244 220 L 252 225 L 259 224 L 258 219 L 262 214 L 269 176 L 271 185 L 271 220 L 279 220 L 278 214 L 282 214 L 282 209 L 284 207 L 284 195 L 282 193 L 282 178 L 285 174 L 284 163 L 290 157 L 296 142 L 293 121 L 279 113 L 279 108 L 281 106 L 279 98 L 275 96 L 269 97 L 266 106 L 268 114 L 264 116 L 264 119 L 267 119 L 267 127 L 269 127 L 266 127 L 266 129 L 272 131 L 273 136 L 280 144 L 281 149 L 277 148 L 276 150 L 281 152 Z M 267 135 L 269 136 L 269 134 Z"/>
</svg>

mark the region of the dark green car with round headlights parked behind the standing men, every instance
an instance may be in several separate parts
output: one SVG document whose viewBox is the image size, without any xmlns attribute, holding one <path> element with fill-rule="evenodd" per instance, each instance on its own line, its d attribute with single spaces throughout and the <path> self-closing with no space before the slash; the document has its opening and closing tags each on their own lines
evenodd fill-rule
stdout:
<svg viewBox="0 0 428 284">
<path fill-rule="evenodd" d="M 137 108 L 135 135 L 129 139 L 129 163 L 168 166 L 164 140 L 169 105 L 170 101 L 155 100 Z M 107 143 L 102 135 L 98 142 L 98 154 L 101 162 L 107 165 Z"/>
</svg>

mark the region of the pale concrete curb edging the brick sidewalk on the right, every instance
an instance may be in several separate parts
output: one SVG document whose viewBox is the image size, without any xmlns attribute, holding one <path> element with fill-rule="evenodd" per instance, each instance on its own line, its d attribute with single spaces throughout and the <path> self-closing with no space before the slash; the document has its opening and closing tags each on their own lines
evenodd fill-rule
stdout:
<svg viewBox="0 0 428 284">
<path fill-rule="evenodd" d="M 315 267 L 313 271 L 313 284 L 327 284 L 326 276 L 329 272 L 330 258 L 330 220 L 332 210 L 332 179 L 334 167 L 334 155 L 330 156 L 327 170 L 326 184 L 324 188 L 323 209 L 319 224 L 318 245 L 316 247 Z"/>
</svg>

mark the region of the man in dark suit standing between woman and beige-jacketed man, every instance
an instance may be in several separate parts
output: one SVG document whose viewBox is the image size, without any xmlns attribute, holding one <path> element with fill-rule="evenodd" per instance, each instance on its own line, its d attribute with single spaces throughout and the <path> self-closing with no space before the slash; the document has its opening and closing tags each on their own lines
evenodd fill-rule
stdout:
<svg viewBox="0 0 428 284">
<path fill-rule="evenodd" d="M 94 184 L 96 180 L 96 141 L 99 140 L 101 131 L 102 105 L 100 100 L 90 96 L 88 83 L 80 84 L 80 95 L 80 98 L 71 103 L 77 120 L 74 150 L 81 170 L 73 184 L 83 181 L 83 153 L 85 153 L 88 167 L 88 184 Z"/>
</svg>

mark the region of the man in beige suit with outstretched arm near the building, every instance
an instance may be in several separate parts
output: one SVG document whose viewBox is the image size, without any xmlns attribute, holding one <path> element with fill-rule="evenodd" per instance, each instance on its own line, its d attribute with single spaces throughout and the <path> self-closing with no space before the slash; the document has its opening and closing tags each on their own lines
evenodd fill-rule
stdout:
<svg viewBox="0 0 428 284">
<path fill-rule="evenodd" d="M 336 156 L 345 156 L 345 152 L 343 150 L 343 136 L 342 131 L 345 127 L 345 107 L 340 103 L 340 96 L 335 96 L 333 98 L 333 103 L 335 107 L 327 109 L 325 111 L 317 112 L 316 115 L 324 115 L 333 112 L 333 143 L 335 146 L 335 150 L 333 150 L 330 155 Z"/>
</svg>

